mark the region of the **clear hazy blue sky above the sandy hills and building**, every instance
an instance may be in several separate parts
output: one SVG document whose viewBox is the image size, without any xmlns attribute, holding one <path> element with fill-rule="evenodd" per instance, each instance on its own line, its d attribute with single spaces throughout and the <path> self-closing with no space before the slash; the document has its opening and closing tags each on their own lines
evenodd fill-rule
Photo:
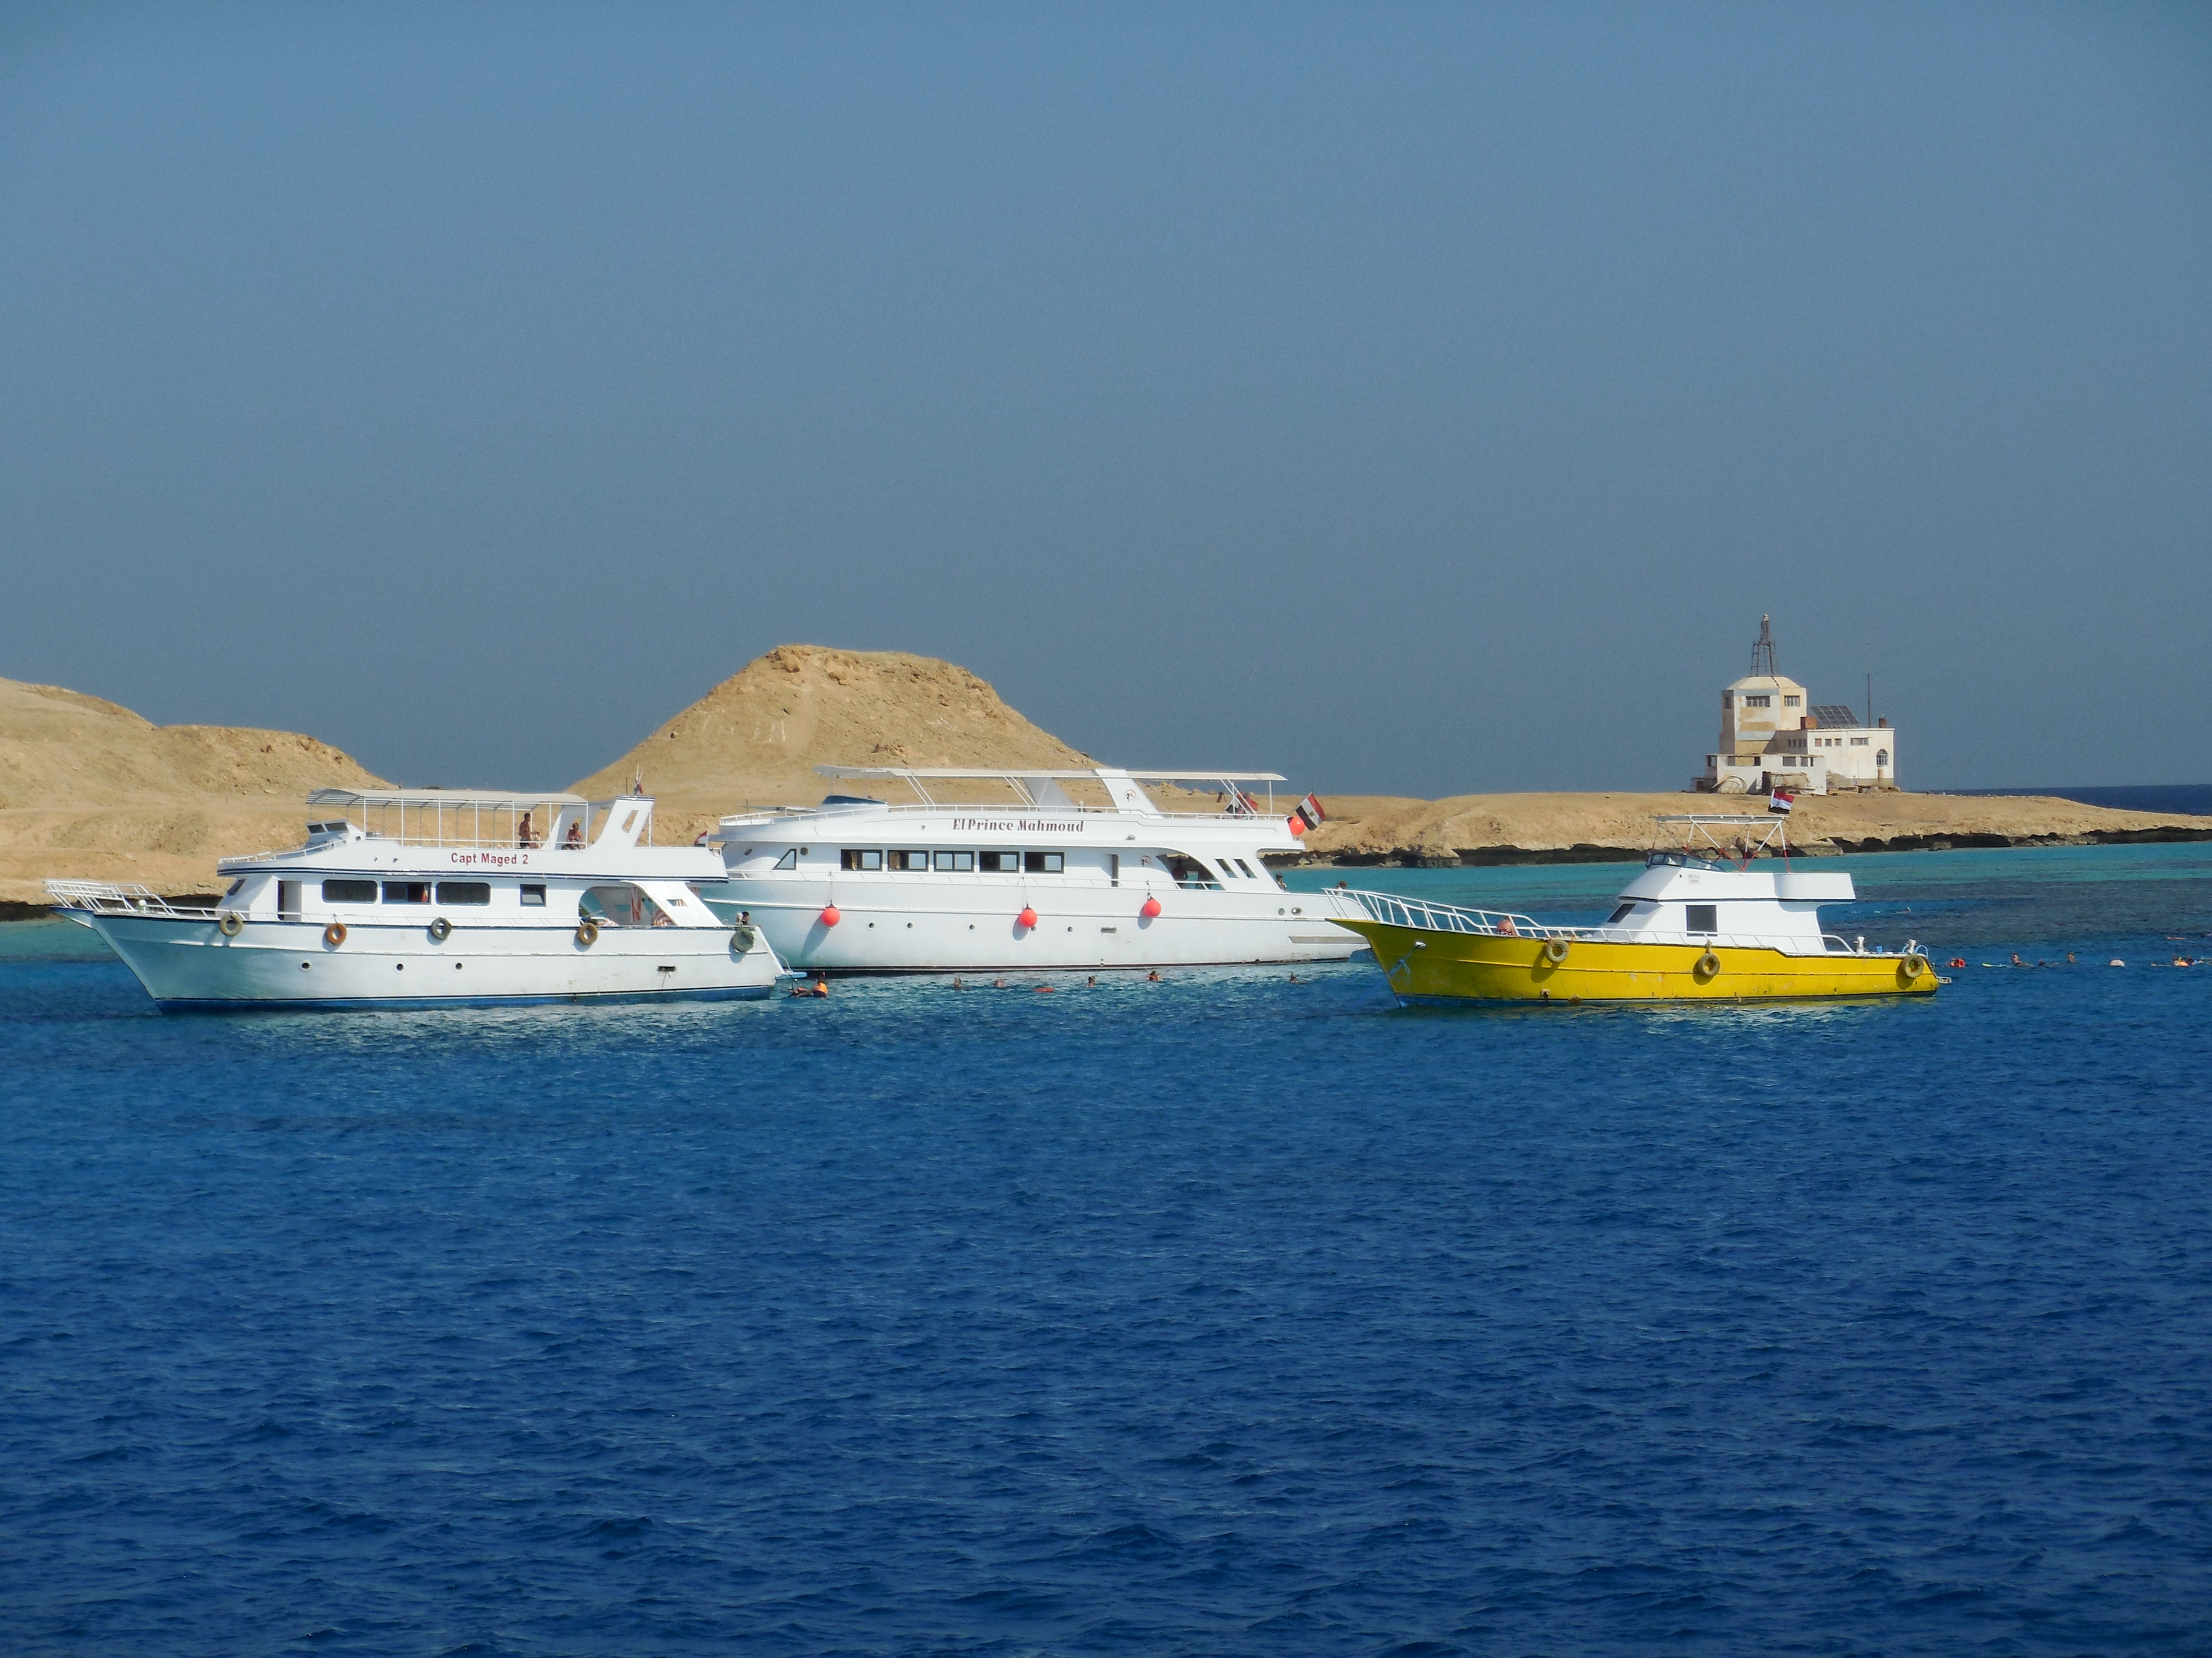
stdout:
<svg viewBox="0 0 2212 1658">
<path fill-rule="evenodd" d="M 2212 778 L 2212 9 L 0 13 L 0 674 L 1679 787 L 1761 610 L 1907 785 Z"/>
</svg>

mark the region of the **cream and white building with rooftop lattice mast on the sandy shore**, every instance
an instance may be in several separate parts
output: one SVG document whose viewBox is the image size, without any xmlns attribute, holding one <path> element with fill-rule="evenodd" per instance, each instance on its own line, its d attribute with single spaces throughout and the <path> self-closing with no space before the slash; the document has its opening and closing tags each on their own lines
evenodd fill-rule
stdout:
<svg viewBox="0 0 2212 1658">
<path fill-rule="evenodd" d="M 1776 672 L 1774 632 L 1761 617 L 1752 672 L 1721 692 L 1721 743 L 1692 787 L 1712 794 L 1893 789 L 1898 734 L 1887 718 L 1867 725 L 1843 703 L 1809 703 L 1803 685 Z"/>
</svg>

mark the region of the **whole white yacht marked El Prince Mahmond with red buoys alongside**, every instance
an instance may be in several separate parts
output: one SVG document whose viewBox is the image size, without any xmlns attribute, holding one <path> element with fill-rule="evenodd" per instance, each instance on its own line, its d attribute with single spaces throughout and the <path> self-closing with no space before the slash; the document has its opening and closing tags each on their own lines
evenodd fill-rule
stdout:
<svg viewBox="0 0 2212 1658">
<path fill-rule="evenodd" d="M 807 973 L 1343 962 L 1365 948 L 1336 926 L 1367 917 L 1347 895 L 1292 893 L 1267 871 L 1265 853 L 1296 851 L 1321 820 L 1312 796 L 1276 816 L 1274 772 L 814 769 L 911 800 L 832 794 L 721 820 L 717 909 Z"/>
</svg>

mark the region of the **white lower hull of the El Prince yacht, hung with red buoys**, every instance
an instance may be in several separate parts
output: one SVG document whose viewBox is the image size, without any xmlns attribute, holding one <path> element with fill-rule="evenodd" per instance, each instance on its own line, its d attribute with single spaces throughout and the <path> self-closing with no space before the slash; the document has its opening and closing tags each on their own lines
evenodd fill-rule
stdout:
<svg viewBox="0 0 2212 1658">
<path fill-rule="evenodd" d="M 701 895 L 739 911 L 805 973 L 1077 973 L 1099 968 L 1347 962 L 1365 944 L 1343 931 L 1327 893 L 1157 891 L 1144 886 L 916 891 L 914 882 L 841 878 L 732 880 Z M 836 904 L 838 922 L 823 922 Z M 1037 924 L 1020 911 L 1035 906 Z"/>
</svg>

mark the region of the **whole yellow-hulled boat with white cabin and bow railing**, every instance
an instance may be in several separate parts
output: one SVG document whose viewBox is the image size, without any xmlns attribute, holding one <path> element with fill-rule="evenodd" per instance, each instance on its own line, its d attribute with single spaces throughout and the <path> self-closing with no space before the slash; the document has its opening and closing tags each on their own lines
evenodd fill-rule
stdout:
<svg viewBox="0 0 2212 1658">
<path fill-rule="evenodd" d="M 1933 995 L 1942 984 L 1911 942 L 1869 951 L 1820 931 L 1820 904 L 1856 898 L 1851 878 L 1790 869 L 1778 818 L 1659 822 L 1705 849 L 1650 853 L 1604 926 L 1352 891 L 1338 895 L 1365 920 L 1336 924 L 1374 946 L 1400 1004 L 1776 1001 Z M 1734 847 L 1714 831 L 1734 833 Z M 1754 869 L 1761 851 L 1778 853 L 1778 867 Z"/>
</svg>

